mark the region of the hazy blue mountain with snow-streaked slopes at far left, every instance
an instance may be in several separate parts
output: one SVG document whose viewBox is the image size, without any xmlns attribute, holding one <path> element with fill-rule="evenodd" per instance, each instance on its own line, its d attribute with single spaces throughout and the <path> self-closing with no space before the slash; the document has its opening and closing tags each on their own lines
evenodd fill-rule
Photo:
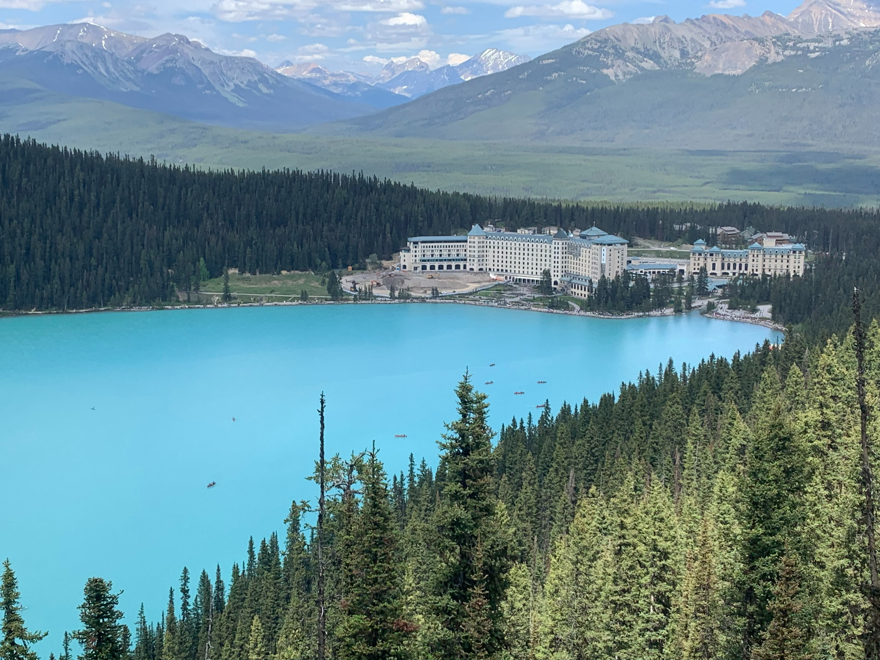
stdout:
<svg viewBox="0 0 880 660">
<path fill-rule="evenodd" d="M 144 39 L 89 24 L 45 26 L 4 31 L 0 46 L 4 77 L 209 124 L 284 132 L 377 108 L 180 34 Z"/>
</svg>

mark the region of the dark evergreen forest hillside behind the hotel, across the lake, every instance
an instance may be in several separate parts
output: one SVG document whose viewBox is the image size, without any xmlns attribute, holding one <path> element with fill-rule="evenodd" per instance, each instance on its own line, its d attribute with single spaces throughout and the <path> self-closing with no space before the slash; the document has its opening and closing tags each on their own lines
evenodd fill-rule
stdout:
<svg viewBox="0 0 880 660">
<path fill-rule="evenodd" d="M 154 304 L 194 287 L 205 275 L 201 260 L 209 277 L 224 268 L 346 268 L 372 253 L 391 257 L 407 236 L 490 220 L 510 229 L 597 224 L 625 238 L 691 241 L 726 224 L 788 231 L 819 257 L 803 281 L 766 285 L 777 320 L 804 324 L 810 336 L 841 332 L 854 284 L 868 296 L 866 309 L 880 312 L 874 210 L 488 198 L 357 174 L 202 172 L 12 136 L 0 139 L 0 304 L 9 311 Z"/>
</svg>

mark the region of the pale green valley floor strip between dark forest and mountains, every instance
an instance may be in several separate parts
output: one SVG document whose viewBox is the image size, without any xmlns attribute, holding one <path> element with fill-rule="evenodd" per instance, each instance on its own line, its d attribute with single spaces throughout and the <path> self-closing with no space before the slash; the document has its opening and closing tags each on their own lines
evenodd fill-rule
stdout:
<svg viewBox="0 0 880 660">
<path fill-rule="evenodd" d="M 16 94 L 4 94 L 8 90 Z M 22 92 L 26 92 L 23 94 Z M 10 104 L 12 96 L 24 102 Z M 533 101 L 533 99 L 532 99 Z M 499 108 L 502 110 L 502 108 Z M 202 167 L 362 171 L 481 194 L 615 201 L 880 204 L 880 152 L 640 149 L 423 138 L 272 135 L 0 79 L 0 131 Z"/>
</svg>

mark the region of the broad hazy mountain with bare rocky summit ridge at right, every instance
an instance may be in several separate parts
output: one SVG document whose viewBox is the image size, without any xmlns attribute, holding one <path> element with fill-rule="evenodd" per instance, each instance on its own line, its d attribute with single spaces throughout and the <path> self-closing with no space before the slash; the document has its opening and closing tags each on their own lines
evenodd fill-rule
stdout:
<svg viewBox="0 0 880 660">
<path fill-rule="evenodd" d="M 880 13 L 858 0 L 814 0 L 788 17 L 657 17 L 315 130 L 699 149 L 880 146 L 877 26 Z"/>
</svg>

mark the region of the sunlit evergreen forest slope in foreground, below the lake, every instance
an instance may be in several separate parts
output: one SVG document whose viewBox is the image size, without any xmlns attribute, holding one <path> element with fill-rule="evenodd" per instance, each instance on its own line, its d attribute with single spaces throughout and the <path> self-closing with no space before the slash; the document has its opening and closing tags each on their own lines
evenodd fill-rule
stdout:
<svg viewBox="0 0 880 660">
<path fill-rule="evenodd" d="M 107 650 L 81 657 L 864 657 L 856 364 L 852 334 L 815 348 L 795 335 L 547 406 L 496 444 L 465 378 L 436 470 L 411 458 L 389 481 L 369 446 L 329 461 L 322 550 L 311 506 L 293 502 L 282 539 L 252 539 L 231 573 L 185 568 L 165 620 L 142 609 L 133 635 L 92 578 L 75 638 Z M 870 453 L 876 324 L 865 364 Z"/>
</svg>

